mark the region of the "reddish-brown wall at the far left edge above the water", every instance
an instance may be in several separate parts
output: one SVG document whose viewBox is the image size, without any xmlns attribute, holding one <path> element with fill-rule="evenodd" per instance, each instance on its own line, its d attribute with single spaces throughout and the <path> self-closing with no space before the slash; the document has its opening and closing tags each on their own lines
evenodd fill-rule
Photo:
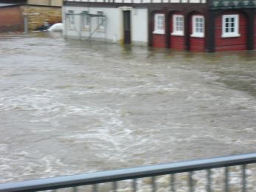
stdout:
<svg viewBox="0 0 256 192">
<path fill-rule="evenodd" d="M 0 8 L 0 32 L 23 30 L 23 18 L 19 7 Z"/>
</svg>

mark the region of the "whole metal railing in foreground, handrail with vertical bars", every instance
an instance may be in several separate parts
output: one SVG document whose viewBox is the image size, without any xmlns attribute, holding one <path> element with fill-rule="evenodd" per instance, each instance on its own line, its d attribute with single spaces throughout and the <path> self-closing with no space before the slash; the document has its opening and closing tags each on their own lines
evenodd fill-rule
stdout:
<svg viewBox="0 0 256 192">
<path fill-rule="evenodd" d="M 132 179 L 132 191 L 138 190 L 138 179 L 144 177 L 152 177 L 151 191 L 157 191 L 155 182 L 156 176 L 170 175 L 169 191 L 176 191 L 175 175 L 188 173 L 188 190 L 195 191 L 194 182 L 192 179 L 195 171 L 206 171 L 206 191 L 212 190 L 212 170 L 215 168 L 224 168 L 224 188 L 223 191 L 231 191 L 229 188 L 229 168 L 239 165 L 241 175 L 241 191 L 246 191 L 247 175 L 246 166 L 256 163 L 255 154 L 238 154 L 226 157 L 215 157 L 206 160 L 191 160 L 185 162 L 174 162 L 161 165 L 150 165 L 138 168 L 125 168 L 115 171 L 102 171 L 90 174 L 78 174 L 74 176 L 61 176 L 47 179 L 37 179 L 24 182 L 13 182 L 0 185 L 0 191 L 46 191 L 56 190 L 61 188 L 73 188 L 74 192 L 78 191 L 78 186 L 92 185 L 92 191 L 98 191 L 98 185 L 101 183 L 112 182 L 112 190 L 118 190 L 118 182 Z"/>
</svg>

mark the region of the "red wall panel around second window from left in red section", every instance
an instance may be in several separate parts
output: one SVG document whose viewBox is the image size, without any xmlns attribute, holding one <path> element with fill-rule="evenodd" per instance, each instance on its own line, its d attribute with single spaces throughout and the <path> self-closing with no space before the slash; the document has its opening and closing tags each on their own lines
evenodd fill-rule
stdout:
<svg viewBox="0 0 256 192">
<path fill-rule="evenodd" d="M 172 49 L 176 49 L 176 50 L 183 50 L 185 47 L 184 47 L 184 36 L 178 36 L 178 35 L 172 35 L 172 32 L 173 32 L 173 22 L 172 22 L 172 16 L 175 15 L 175 14 L 179 14 L 179 15 L 183 15 L 182 13 L 180 12 L 175 12 L 173 13 L 170 18 L 169 18 L 169 31 L 171 32 L 171 35 L 170 35 L 170 47 Z"/>
</svg>

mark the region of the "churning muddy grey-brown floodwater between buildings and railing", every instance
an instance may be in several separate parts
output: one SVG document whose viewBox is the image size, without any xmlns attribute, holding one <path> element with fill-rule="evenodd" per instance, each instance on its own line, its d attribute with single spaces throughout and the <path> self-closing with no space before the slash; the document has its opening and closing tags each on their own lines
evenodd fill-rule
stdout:
<svg viewBox="0 0 256 192">
<path fill-rule="evenodd" d="M 256 151 L 256 52 L 0 36 L 0 182 Z"/>
</svg>

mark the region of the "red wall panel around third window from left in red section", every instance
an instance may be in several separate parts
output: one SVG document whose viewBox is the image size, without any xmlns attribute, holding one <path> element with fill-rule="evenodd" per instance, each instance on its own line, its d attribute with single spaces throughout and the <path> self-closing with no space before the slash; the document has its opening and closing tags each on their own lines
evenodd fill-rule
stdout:
<svg viewBox="0 0 256 192">
<path fill-rule="evenodd" d="M 202 16 L 201 14 L 193 14 L 192 16 Z M 192 34 L 192 16 L 189 19 L 189 34 Z M 204 18 L 204 25 L 206 24 Z M 195 52 L 203 52 L 204 51 L 204 41 L 205 38 L 197 38 L 197 37 L 189 37 L 189 49 Z"/>
</svg>

